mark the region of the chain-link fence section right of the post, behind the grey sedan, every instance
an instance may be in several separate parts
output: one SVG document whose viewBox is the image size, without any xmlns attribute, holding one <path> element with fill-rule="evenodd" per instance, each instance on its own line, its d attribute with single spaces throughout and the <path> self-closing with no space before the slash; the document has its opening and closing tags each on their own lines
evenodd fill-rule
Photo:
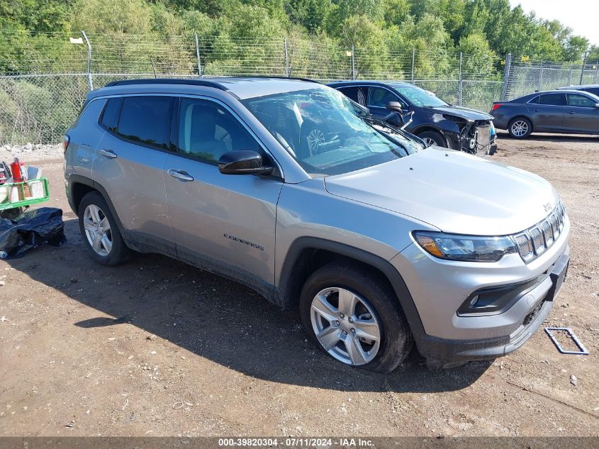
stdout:
<svg viewBox="0 0 599 449">
<path fill-rule="evenodd" d="M 599 83 L 599 61 L 593 64 L 569 62 L 514 62 L 505 83 L 505 99 L 558 87 Z"/>
</svg>

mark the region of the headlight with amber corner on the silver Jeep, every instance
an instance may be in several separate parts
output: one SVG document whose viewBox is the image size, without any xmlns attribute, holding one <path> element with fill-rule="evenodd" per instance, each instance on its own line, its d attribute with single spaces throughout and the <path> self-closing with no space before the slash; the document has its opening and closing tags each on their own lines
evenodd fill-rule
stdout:
<svg viewBox="0 0 599 449">
<path fill-rule="evenodd" d="M 497 262 L 504 255 L 517 252 L 512 238 L 506 236 L 480 237 L 431 231 L 414 231 L 413 235 L 418 245 L 440 259 Z"/>
</svg>

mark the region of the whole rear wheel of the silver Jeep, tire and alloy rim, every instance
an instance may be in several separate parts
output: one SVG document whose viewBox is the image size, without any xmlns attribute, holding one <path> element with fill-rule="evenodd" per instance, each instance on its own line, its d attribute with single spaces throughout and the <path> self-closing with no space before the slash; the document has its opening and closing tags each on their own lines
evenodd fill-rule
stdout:
<svg viewBox="0 0 599 449">
<path fill-rule="evenodd" d="M 91 257 L 101 265 L 120 265 L 132 255 L 98 192 L 89 192 L 79 204 L 79 230 Z"/>
</svg>

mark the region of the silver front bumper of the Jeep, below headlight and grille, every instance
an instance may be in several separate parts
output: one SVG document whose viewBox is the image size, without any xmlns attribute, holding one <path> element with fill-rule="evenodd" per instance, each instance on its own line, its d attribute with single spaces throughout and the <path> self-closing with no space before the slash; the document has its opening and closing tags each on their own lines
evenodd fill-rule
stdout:
<svg viewBox="0 0 599 449">
<path fill-rule="evenodd" d="M 555 273 L 569 260 L 569 231 L 566 215 L 560 238 L 528 263 L 519 254 L 488 263 L 441 260 L 416 243 L 393 257 L 391 264 L 401 273 L 411 300 L 401 301 L 402 306 L 429 365 L 449 367 L 500 357 L 524 344 L 549 314 L 560 287 Z M 507 294 L 503 287 L 510 287 Z M 500 308 L 462 313 L 476 293 L 497 294 L 497 289 L 502 296 Z M 534 319 L 526 321 L 531 314 Z"/>
</svg>

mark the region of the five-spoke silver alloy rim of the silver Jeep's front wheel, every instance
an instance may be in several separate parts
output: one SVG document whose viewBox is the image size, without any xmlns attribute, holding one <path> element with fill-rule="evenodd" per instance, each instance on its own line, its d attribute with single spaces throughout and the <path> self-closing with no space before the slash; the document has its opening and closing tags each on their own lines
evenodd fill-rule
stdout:
<svg viewBox="0 0 599 449">
<path fill-rule="evenodd" d="M 366 299 L 340 287 L 314 296 L 310 310 L 318 342 L 347 365 L 366 365 L 379 352 L 381 327 Z"/>
</svg>

